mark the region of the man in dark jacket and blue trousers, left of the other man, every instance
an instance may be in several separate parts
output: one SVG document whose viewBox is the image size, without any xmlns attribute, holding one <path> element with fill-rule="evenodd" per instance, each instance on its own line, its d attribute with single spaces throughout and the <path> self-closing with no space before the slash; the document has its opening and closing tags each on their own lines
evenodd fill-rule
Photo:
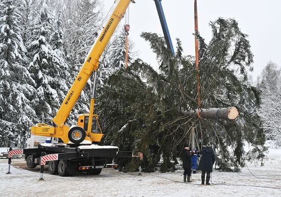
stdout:
<svg viewBox="0 0 281 197">
<path fill-rule="evenodd" d="M 182 150 L 182 165 L 184 169 L 183 173 L 183 182 L 186 182 L 186 175 L 188 177 L 188 183 L 191 182 L 191 157 L 194 153 L 190 153 L 190 146 L 184 145 Z"/>
</svg>

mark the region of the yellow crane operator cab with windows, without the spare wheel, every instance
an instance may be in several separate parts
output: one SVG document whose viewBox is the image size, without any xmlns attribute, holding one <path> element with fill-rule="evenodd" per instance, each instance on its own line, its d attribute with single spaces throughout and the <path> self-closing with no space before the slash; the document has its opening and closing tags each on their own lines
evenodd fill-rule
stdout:
<svg viewBox="0 0 281 197">
<path fill-rule="evenodd" d="M 93 114 L 91 131 L 88 131 L 89 114 L 79 114 L 78 116 L 77 126 L 85 130 L 92 142 L 100 142 L 103 136 L 98 119 L 98 115 Z"/>
</svg>

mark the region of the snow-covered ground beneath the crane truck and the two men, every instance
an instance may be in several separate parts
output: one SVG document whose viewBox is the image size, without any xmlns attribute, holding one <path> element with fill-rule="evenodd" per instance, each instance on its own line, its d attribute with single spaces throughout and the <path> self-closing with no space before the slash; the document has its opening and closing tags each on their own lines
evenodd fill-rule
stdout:
<svg viewBox="0 0 281 197">
<path fill-rule="evenodd" d="M 39 167 L 34 171 L 22 169 L 23 162 L 14 159 L 12 174 L 6 175 L 8 161 L 0 160 L 0 196 L 281 196 L 281 149 L 269 149 L 263 167 L 248 164 L 259 178 L 250 175 L 247 168 L 239 174 L 215 170 L 210 186 L 200 185 L 200 174 L 192 175 L 192 183 L 182 183 L 182 170 L 142 176 L 114 169 L 103 169 L 99 176 L 45 173 L 44 181 L 38 181 Z"/>
</svg>

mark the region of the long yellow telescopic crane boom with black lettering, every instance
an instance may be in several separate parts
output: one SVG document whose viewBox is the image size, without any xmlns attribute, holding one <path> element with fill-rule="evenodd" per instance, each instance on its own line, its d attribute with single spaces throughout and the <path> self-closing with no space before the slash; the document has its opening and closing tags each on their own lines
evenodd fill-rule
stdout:
<svg viewBox="0 0 281 197">
<path fill-rule="evenodd" d="M 85 59 L 80 72 L 78 73 L 78 76 L 76 77 L 71 89 L 69 89 L 68 93 L 66 94 L 63 103 L 53 119 L 57 126 L 65 124 L 69 113 L 72 111 L 76 101 L 78 100 L 78 97 L 80 96 L 84 86 L 91 76 L 91 73 L 98 70 L 100 56 L 102 55 L 120 20 L 123 18 L 130 2 L 131 0 L 120 0 L 113 11 L 113 14 L 109 18 L 105 28 L 98 36 L 95 44 L 92 46 L 90 53 Z"/>
</svg>

